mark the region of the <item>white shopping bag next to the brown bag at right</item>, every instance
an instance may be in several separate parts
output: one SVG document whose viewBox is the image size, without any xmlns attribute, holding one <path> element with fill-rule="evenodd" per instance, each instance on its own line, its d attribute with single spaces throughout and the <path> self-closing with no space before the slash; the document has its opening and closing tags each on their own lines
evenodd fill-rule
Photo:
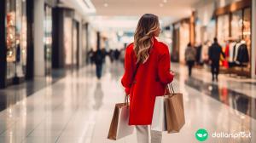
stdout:
<svg viewBox="0 0 256 143">
<path fill-rule="evenodd" d="M 165 96 L 156 96 L 154 102 L 154 113 L 152 117 L 151 130 L 166 131 L 166 108 Z"/>
</svg>

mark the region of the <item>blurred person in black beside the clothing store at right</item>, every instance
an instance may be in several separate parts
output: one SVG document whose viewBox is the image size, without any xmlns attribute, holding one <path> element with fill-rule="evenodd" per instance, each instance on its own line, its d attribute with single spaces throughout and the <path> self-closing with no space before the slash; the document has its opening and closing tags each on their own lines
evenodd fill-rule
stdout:
<svg viewBox="0 0 256 143">
<path fill-rule="evenodd" d="M 214 37 L 212 46 L 209 48 L 209 62 L 212 66 L 212 82 L 214 79 L 218 82 L 218 71 L 219 71 L 219 59 L 220 54 L 225 58 L 225 54 L 221 49 L 221 46 L 218 44 L 218 39 Z"/>
</svg>

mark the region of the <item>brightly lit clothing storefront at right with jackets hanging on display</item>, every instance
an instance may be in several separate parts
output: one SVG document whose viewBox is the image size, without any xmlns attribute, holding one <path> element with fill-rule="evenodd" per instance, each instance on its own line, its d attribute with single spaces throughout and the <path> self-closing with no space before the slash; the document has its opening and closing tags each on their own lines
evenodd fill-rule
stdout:
<svg viewBox="0 0 256 143">
<path fill-rule="evenodd" d="M 226 60 L 224 72 L 238 76 L 251 76 L 252 8 L 250 0 L 231 3 L 215 10 L 218 43 L 223 47 Z M 225 64 L 227 63 L 227 64 Z"/>
</svg>

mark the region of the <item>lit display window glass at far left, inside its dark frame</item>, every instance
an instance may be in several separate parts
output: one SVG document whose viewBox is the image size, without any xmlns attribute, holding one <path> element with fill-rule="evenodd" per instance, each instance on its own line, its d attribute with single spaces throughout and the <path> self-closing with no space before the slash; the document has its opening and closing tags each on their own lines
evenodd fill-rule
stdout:
<svg viewBox="0 0 256 143">
<path fill-rule="evenodd" d="M 7 79 L 26 74 L 26 0 L 6 1 Z"/>
</svg>

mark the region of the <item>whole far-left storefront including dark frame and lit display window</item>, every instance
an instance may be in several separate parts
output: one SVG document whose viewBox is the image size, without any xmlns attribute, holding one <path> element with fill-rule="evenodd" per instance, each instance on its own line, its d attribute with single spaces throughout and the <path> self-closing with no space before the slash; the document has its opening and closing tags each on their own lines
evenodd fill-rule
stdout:
<svg viewBox="0 0 256 143">
<path fill-rule="evenodd" d="M 1 7 L 0 88 L 20 83 L 26 77 L 26 0 L 5 0 Z"/>
</svg>

